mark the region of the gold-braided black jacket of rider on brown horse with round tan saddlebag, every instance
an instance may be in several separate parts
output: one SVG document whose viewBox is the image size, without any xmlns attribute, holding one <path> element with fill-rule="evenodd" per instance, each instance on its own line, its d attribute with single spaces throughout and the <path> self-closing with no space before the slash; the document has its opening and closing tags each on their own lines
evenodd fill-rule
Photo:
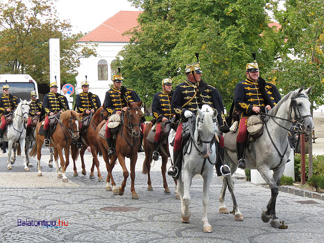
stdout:
<svg viewBox="0 0 324 243">
<path fill-rule="evenodd" d="M 122 110 L 127 106 L 127 102 L 140 102 L 140 97 L 132 89 L 127 89 L 121 86 L 119 90 L 111 88 L 106 92 L 104 108 L 108 111 L 108 117 Z"/>
</svg>

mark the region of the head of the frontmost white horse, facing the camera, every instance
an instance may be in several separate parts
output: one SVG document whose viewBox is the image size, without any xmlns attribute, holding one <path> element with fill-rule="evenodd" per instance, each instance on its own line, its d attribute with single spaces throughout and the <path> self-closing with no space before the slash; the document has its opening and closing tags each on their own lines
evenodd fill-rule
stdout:
<svg viewBox="0 0 324 243">
<path fill-rule="evenodd" d="M 198 109 L 196 118 L 196 132 L 198 133 L 198 144 L 201 145 L 201 155 L 209 157 L 212 145 L 215 142 L 215 135 L 219 134 L 217 127 L 217 110 L 209 105 L 203 105 Z"/>
</svg>

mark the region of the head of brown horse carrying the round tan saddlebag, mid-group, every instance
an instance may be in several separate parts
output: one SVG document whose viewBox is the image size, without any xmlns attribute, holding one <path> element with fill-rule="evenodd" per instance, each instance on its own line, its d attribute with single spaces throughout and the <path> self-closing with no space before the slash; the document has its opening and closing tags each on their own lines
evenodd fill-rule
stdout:
<svg viewBox="0 0 324 243">
<path fill-rule="evenodd" d="M 140 126 L 141 126 L 141 102 L 128 102 L 127 111 L 125 117 L 125 123 L 131 129 L 131 134 L 134 137 L 139 137 L 141 135 Z"/>
</svg>

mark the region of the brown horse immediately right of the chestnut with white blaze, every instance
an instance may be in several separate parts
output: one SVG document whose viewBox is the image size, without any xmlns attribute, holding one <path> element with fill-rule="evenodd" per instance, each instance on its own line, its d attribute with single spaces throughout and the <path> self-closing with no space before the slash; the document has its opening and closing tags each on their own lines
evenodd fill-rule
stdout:
<svg viewBox="0 0 324 243">
<path fill-rule="evenodd" d="M 99 170 L 98 152 L 100 149 L 98 147 L 98 143 L 97 143 L 97 139 L 96 139 L 96 128 L 101 123 L 101 121 L 104 119 L 104 117 L 107 117 L 107 115 L 108 115 L 108 112 L 104 111 L 103 106 L 101 106 L 96 111 L 96 113 L 90 118 L 90 124 L 88 127 L 88 131 L 87 131 L 87 133 L 84 133 L 82 135 L 83 147 L 80 149 L 82 174 L 87 175 L 84 154 L 89 146 L 91 148 L 91 153 L 93 156 L 91 173 L 90 173 L 89 178 L 90 179 L 95 178 L 94 168 L 96 166 L 97 171 L 98 171 L 98 181 L 100 181 L 100 182 L 104 181 L 104 179 L 102 178 L 100 170 Z M 72 159 L 73 159 L 73 171 L 74 171 L 73 176 L 78 176 L 77 171 L 76 171 L 76 166 L 75 166 L 75 160 L 77 157 L 77 148 L 76 148 L 75 144 L 71 145 L 71 152 L 72 152 Z"/>
</svg>

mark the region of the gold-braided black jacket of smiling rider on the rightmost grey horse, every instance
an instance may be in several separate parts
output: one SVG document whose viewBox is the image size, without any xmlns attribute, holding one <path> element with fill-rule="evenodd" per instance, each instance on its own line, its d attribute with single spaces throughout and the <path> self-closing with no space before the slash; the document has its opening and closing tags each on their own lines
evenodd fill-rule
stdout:
<svg viewBox="0 0 324 243">
<path fill-rule="evenodd" d="M 234 105 L 241 112 L 240 118 L 257 115 L 252 111 L 253 106 L 260 107 L 265 112 L 267 105 L 273 107 L 280 99 L 277 88 L 270 82 L 265 82 L 264 90 L 259 86 L 258 80 L 254 82 L 249 78 L 235 86 Z"/>
</svg>

